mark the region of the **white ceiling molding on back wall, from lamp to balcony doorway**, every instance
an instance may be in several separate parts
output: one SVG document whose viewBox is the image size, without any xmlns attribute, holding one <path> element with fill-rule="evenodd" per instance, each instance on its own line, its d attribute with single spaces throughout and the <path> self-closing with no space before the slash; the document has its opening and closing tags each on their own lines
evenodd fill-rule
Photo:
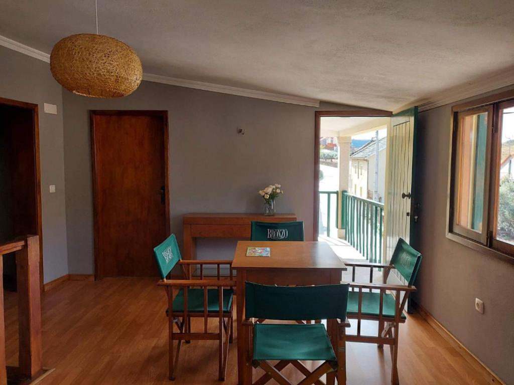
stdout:
<svg viewBox="0 0 514 385">
<path fill-rule="evenodd" d="M 193 80 L 170 78 L 169 76 L 154 75 L 151 73 L 143 73 L 143 80 L 146 80 L 148 82 L 170 84 L 170 85 L 179 86 L 179 87 L 201 89 L 204 91 L 229 93 L 231 95 L 238 95 L 238 96 L 254 98 L 254 99 L 264 99 L 264 100 L 271 100 L 274 102 L 298 104 L 301 106 L 309 106 L 309 107 L 319 107 L 320 106 L 320 101 L 314 100 L 314 99 L 300 98 L 300 97 L 295 97 L 292 95 L 284 95 L 281 93 L 256 91 L 256 90 L 251 90 L 251 89 L 247 89 L 247 88 L 238 88 L 238 87 L 231 87 L 231 86 L 222 86 L 219 84 L 196 82 Z"/>
</svg>

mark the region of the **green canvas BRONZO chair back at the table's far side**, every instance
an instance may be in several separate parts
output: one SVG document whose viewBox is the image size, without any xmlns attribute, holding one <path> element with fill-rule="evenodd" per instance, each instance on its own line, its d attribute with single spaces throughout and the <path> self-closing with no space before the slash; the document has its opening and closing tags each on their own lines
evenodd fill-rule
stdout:
<svg viewBox="0 0 514 385">
<path fill-rule="evenodd" d="M 303 241 L 303 222 L 252 221 L 251 241 Z"/>
</svg>

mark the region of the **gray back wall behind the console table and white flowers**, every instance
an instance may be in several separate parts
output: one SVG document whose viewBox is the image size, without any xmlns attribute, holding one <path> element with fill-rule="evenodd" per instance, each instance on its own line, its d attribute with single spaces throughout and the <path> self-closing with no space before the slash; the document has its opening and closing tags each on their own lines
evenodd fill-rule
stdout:
<svg viewBox="0 0 514 385">
<path fill-rule="evenodd" d="M 257 191 L 270 183 L 285 190 L 278 211 L 296 213 L 312 238 L 315 108 L 151 82 L 121 99 L 63 91 L 63 101 L 70 274 L 94 272 L 90 109 L 169 111 L 171 231 L 180 243 L 183 214 L 259 213 Z M 198 258 L 231 258 L 234 246 L 200 240 Z"/>
</svg>

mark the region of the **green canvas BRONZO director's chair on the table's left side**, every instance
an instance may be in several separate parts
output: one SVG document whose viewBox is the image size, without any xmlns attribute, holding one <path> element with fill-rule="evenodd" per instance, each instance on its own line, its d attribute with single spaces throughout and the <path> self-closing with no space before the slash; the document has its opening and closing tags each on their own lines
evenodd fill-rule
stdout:
<svg viewBox="0 0 514 385">
<path fill-rule="evenodd" d="M 168 296 L 168 309 L 166 313 L 169 323 L 170 379 L 175 379 L 174 369 L 178 363 L 180 345 L 183 340 L 187 343 L 191 340 L 217 340 L 219 342 L 218 378 L 219 380 L 224 380 L 227 369 L 228 344 L 232 342 L 233 333 L 232 302 L 235 281 L 232 280 L 232 261 L 181 260 L 174 234 L 154 248 L 154 256 L 162 278 L 158 285 L 164 286 Z M 200 267 L 199 279 L 191 279 L 191 266 L 198 265 Z M 204 277 L 204 266 L 206 265 L 217 266 L 216 277 Z M 222 265 L 229 266 L 229 280 L 220 279 L 220 268 Z M 175 266 L 180 266 L 184 279 L 167 279 Z M 192 331 L 191 318 L 204 319 L 201 332 Z M 208 330 L 209 318 L 217 318 L 219 321 L 215 333 Z M 177 331 L 174 331 L 175 326 Z M 173 341 L 177 341 L 175 358 Z"/>
</svg>

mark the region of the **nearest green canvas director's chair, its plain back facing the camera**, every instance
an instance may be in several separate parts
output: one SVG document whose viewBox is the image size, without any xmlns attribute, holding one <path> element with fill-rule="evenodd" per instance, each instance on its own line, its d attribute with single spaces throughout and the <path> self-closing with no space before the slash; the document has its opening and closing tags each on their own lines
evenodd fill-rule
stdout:
<svg viewBox="0 0 514 385">
<path fill-rule="evenodd" d="M 253 385 L 263 385 L 271 379 L 291 385 L 282 373 L 289 364 L 305 379 L 302 385 L 327 383 L 340 385 L 346 381 L 345 328 L 348 284 L 318 286 L 268 286 L 245 283 L 245 366 L 262 368 L 266 373 Z M 255 323 L 255 318 L 278 321 L 303 319 L 337 319 L 337 335 L 329 338 L 322 323 Z M 240 337 L 238 337 L 240 338 Z M 276 364 L 270 361 L 279 362 Z M 314 371 L 300 361 L 323 361 Z M 248 369 L 247 369 L 248 370 Z M 249 377 L 248 377 L 249 375 Z M 245 374 L 245 384 L 251 383 L 251 371 Z M 328 380 L 328 377 L 331 380 Z"/>
</svg>

